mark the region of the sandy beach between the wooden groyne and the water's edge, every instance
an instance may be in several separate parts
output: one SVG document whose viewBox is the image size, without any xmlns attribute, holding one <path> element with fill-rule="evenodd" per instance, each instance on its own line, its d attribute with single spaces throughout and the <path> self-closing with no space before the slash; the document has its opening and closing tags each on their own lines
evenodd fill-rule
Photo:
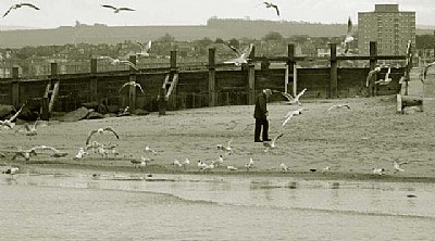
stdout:
<svg viewBox="0 0 435 241">
<path fill-rule="evenodd" d="M 348 109 L 327 109 L 334 104 L 348 104 Z M 223 154 L 223 166 L 211 174 L 221 175 L 288 175 L 302 178 L 384 179 L 391 181 L 435 181 L 433 149 L 435 145 L 435 115 L 418 112 L 412 115 L 396 114 L 396 97 L 352 98 L 340 100 L 304 101 L 303 112 L 294 116 L 282 128 L 284 116 L 298 105 L 273 102 L 270 112 L 270 136 L 284 136 L 277 149 L 265 152 L 262 143 L 253 142 L 253 105 L 219 106 L 166 112 L 159 116 L 109 117 L 103 119 L 64 123 L 50 120 L 38 127 L 38 135 L 26 136 L 24 128 L 0 131 L 0 151 L 7 157 L 3 165 L 25 168 L 86 168 L 132 173 L 202 174 L 197 167 L 201 160 L 211 163 Z M 90 130 L 111 126 L 120 135 L 104 132 L 91 140 L 119 144 L 120 155 L 101 157 L 89 150 L 83 160 L 73 160 L 85 147 Z M 233 139 L 232 154 L 217 150 Z M 17 147 L 29 149 L 50 145 L 65 157 L 52 157 L 50 151 L 39 152 L 30 161 L 18 157 L 11 161 Z M 149 145 L 157 153 L 146 153 Z M 146 167 L 137 168 L 130 161 L 141 156 L 152 158 Z M 186 170 L 172 165 L 174 158 L 190 160 Z M 247 173 L 245 164 L 252 158 L 253 168 Z M 393 161 L 408 162 L 405 172 L 395 173 Z M 282 173 L 279 164 L 289 170 Z M 226 166 L 238 167 L 228 170 Z M 323 172 L 323 168 L 330 170 Z M 373 174 L 373 168 L 385 168 L 385 175 Z M 312 172 L 310 169 L 315 169 Z"/>
</svg>

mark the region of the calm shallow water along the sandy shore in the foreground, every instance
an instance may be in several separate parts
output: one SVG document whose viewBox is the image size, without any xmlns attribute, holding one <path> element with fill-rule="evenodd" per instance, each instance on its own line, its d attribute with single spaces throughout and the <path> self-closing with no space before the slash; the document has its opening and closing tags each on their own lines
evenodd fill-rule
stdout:
<svg viewBox="0 0 435 241">
<path fill-rule="evenodd" d="M 0 175 L 0 240 L 432 240 L 434 189 L 288 177 Z"/>
</svg>

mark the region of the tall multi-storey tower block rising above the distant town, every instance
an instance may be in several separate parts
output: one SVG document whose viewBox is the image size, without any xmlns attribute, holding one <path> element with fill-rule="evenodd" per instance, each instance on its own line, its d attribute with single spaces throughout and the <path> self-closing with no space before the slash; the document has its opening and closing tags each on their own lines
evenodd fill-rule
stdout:
<svg viewBox="0 0 435 241">
<path fill-rule="evenodd" d="M 359 12 L 358 39 L 363 55 L 370 53 L 370 41 L 377 42 L 377 54 L 406 54 L 408 41 L 415 45 L 415 12 L 399 11 L 398 4 L 375 4 L 374 12 Z"/>
</svg>

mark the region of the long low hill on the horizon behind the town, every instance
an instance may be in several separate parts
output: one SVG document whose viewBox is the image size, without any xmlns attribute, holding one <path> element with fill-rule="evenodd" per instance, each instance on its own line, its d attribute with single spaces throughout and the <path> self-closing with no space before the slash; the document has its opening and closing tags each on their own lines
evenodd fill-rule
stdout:
<svg viewBox="0 0 435 241">
<path fill-rule="evenodd" d="M 53 29 L 1 30 L 0 48 L 24 46 L 51 46 L 65 43 L 119 43 L 125 40 L 156 40 L 170 34 L 176 40 L 202 38 L 254 38 L 260 39 L 270 31 L 278 31 L 284 37 L 306 35 L 312 37 L 338 37 L 346 33 L 345 24 L 320 24 L 306 22 L 274 22 L 260 20 L 210 18 L 207 25 L 192 26 L 62 26 Z M 430 28 L 417 34 L 432 34 Z"/>
</svg>

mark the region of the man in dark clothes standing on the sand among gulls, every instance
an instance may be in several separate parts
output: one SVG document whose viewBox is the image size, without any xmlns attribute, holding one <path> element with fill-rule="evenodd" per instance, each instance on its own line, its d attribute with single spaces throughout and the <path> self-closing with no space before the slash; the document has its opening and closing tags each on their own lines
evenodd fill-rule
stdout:
<svg viewBox="0 0 435 241">
<path fill-rule="evenodd" d="M 272 96 L 272 90 L 263 89 L 256 99 L 256 110 L 253 117 L 256 118 L 254 142 L 271 141 L 269 139 L 269 120 L 268 120 L 268 99 Z M 260 139 L 261 127 L 263 127 L 263 140 Z"/>
</svg>

